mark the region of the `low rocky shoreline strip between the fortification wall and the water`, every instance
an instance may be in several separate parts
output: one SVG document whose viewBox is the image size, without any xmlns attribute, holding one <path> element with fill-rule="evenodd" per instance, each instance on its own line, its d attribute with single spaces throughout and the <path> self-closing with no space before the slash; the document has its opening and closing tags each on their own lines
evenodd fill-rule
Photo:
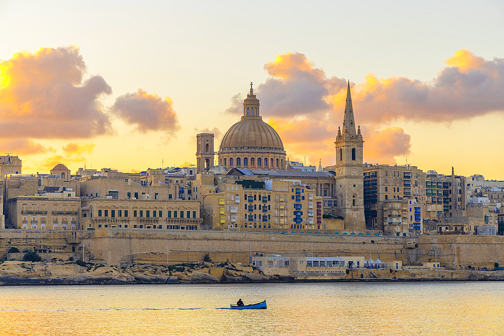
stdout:
<svg viewBox="0 0 504 336">
<path fill-rule="evenodd" d="M 371 277 L 372 274 L 372 277 Z M 0 285 L 118 285 L 214 284 L 278 282 L 385 282 L 385 281 L 504 281 L 504 271 L 369 270 L 345 277 L 297 278 L 264 275 L 257 268 L 233 263 L 185 263 L 169 267 L 133 264 L 118 267 L 103 263 L 4 261 Z"/>
</svg>

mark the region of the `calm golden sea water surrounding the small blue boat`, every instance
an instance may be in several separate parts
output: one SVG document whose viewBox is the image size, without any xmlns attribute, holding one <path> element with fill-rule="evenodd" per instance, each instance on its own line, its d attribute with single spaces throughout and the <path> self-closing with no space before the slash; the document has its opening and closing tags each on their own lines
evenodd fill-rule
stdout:
<svg viewBox="0 0 504 336">
<path fill-rule="evenodd" d="M 497 335 L 503 314 L 504 282 L 0 287 L 2 335 Z"/>
</svg>

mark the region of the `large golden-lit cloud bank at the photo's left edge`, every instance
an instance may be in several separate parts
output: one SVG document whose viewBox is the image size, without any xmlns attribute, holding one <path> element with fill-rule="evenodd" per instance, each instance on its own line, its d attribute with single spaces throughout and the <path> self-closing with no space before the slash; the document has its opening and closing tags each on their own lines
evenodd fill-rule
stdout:
<svg viewBox="0 0 504 336">
<path fill-rule="evenodd" d="M 112 90 L 85 78 L 76 46 L 40 48 L 0 61 L 0 133 L 4 138 L 70 139 L 113 133 L 98 98 Z"/>
</svg>

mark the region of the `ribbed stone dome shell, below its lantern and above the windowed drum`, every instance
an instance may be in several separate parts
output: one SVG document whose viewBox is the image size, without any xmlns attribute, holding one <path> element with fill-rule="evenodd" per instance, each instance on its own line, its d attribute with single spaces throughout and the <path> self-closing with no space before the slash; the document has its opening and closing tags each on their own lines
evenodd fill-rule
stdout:
<svg viewBox="0 0 504 336">
<path fill-rule="evenodd" d="M 262 120 L 261 117 L 246 118 L 232 125 L 222 138 L 220 149 L 261 147 L 264 149 L 284 150 L 278 133 Z"/>
</svg>

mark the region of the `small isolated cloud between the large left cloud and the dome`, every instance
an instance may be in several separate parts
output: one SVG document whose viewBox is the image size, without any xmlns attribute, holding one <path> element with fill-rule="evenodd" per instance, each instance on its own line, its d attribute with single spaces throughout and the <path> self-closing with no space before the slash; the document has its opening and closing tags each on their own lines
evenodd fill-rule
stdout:
<svg viewBox="0 0 504 336">
<path fill-rule="evenodd" d="M 137 131 L 159 130 L 173 136 L 180 126 L 172 105 L 169 97 L 162 99 L 138 89 L 136 93 L 118 97 L 111 110 L 125 123 L 134 125 Z"/>
</svg>

